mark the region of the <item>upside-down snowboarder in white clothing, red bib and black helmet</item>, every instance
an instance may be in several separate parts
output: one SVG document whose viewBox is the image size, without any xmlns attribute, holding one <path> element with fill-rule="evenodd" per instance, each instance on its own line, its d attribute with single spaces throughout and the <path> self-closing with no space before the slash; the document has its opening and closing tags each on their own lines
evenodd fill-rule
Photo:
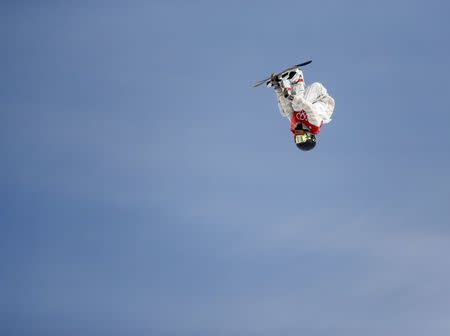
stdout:
<svg viewBox="0 0 450 336">
<path fill-rule="evenodd" d="M 297 67 L 272 74 L 267 82 L 275 89 L 278 107 L 283 117 L 290 120 L 294 141 L 301 150 L 316 146 L 316 135 L 323 124 L 331 121 L 335 102 L 321 83 L 306 86 L 303 71 Z"/>
</svg>

